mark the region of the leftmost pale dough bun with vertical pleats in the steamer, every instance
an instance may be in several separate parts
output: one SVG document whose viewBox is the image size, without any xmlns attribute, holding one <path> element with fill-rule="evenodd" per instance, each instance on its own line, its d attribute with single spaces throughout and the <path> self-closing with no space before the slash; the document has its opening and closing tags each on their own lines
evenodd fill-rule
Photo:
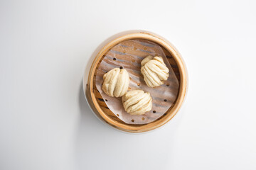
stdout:
<svg viewBox="0 0 256 170">
<path fill-rule="evenodd" d="M 115 68 L 103 76 L 102 90 L 108 96 L 122 97 L 128 90 L 129 74 L 126 69 Z"/>
</svg>

